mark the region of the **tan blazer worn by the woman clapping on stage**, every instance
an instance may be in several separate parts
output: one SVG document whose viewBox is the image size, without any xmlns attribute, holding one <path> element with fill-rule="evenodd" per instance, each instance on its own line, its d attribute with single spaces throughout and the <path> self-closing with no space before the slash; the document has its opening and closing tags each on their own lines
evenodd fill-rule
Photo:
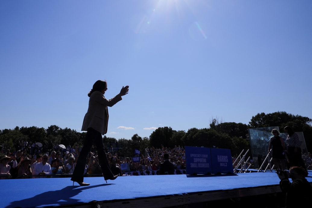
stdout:
<svg viewBox="0 0 312 208">
<path fill-rule="evenodd" d="M 100 91 L 95 91 L 90 95 L 88 111 L 83 119 L 81 131 L 93 128 L 102 135 L 107 133 L 108 108 L 122 100 L 117 94 L 114 98 L 107 100 Z"/>
</svg>

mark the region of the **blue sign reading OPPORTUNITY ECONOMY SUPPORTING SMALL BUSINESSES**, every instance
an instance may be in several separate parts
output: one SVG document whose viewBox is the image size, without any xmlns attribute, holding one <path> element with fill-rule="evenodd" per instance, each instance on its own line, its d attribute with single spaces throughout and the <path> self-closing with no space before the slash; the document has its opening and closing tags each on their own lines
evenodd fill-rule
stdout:
<svg viewBox="0 0 312 208">
<path fill-rule="evenodd" d="M 185 147 L 186 174 L 211 173 L 210 148 Z"/>
</svg>

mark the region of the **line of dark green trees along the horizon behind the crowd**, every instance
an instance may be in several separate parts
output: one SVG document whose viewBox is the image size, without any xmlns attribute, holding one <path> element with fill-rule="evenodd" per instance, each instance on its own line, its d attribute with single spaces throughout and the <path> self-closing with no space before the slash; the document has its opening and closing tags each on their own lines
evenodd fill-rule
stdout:
<svg viewBox="0 0 312 208">
<path fill-rule="evenodd" d="M 207 148 L 231 149 L 232 155 L 238 155 L 243 149 L 249 149 L 250 143 L 246 139 L 248 128 L 262 128 L 278 126 L 280 132 L 284 132 L 285 126 L 291 126 L 295 132 L 303 132 L 308 151 L 312 149 L 312 119 L 300 115 L 275 112 L 270 114 L 258 113 L 252 116 L 248 124 L 235 122 L 222 122 L 218 118 L 210 120 L 207 128 L 190 128 L 188 131 L 173 130 L 171 127 L 159 127 L 151 133 L 149 138 L 134 134 L 131 139 L 111 138 L 104 136 L 104 144 L 118 148 L 121 157 L 132 157 L 134 150 L 139 149 L 142 153 L 147 147 L 173 148 L 175 145 L 203 146 Z M 3 129 L 0 131 L 0 144 L 12 151 L 17 151 L 16 144 L 19 141 L 40 142 L 48 144 L 63 144 L 65 146 L 81 146 L 85 138 L 85 132 L 77 132 L 70 128 L 60 128 L 51 125 L 48 128 L 21 127 Z"/>
</svg>

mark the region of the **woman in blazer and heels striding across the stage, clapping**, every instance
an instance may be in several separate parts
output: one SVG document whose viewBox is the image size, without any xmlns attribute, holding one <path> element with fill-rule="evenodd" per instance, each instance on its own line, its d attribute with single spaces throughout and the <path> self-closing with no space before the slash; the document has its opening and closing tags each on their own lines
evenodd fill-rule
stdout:
<svg viewBox="0 0 312 208">
<path fill-rule="evenodd" d="M 81 131 L 87 131 L 87 133 L 85 135 L 85 141 L 79 154 L 75 170 L 71 177 L 71 181 L 76 181 L 80 186 L 90 185 L 88 183 L 85 183 L 83 179 L 86 159 L 92 143 L 95 143 L 97 147 L 100 167 L 102 169 L 104 180 L 106 181 L 106 183 L 107 180 L 115 180 L 118 177 L 118 175 L 114 175 L 110 169 L 110 165 L 107 160 L 103 144 L 102 135 L 107 133 L 109 118 L 108 106 L 112 107 L 117 102 L 122 100 L 121 96 L 128 94 L 129 86 L 122 87 L 120 93 L 110 100 L 107 100 L 104 97 L 106 90 L 106 81 L 98 80 L 94 83 L 91 91 L 88 93 L 88 97 L 90 97 L 89 107 L 87 113 L 85 114 L 85 118 L 81 128 Z"/>
</svg>

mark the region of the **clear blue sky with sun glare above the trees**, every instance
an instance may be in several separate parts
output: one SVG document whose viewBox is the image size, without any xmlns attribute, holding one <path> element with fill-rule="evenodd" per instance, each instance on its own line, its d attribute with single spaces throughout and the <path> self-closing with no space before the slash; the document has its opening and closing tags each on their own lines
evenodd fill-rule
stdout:
<svg viewBox="0 0 312 208">
<path fill-rule="evenodd" d="M 312 118 L 312 1 L 0 1 L 0 129 L 80 132 L 106 80 L 107 137 Z"/>
</svg>

